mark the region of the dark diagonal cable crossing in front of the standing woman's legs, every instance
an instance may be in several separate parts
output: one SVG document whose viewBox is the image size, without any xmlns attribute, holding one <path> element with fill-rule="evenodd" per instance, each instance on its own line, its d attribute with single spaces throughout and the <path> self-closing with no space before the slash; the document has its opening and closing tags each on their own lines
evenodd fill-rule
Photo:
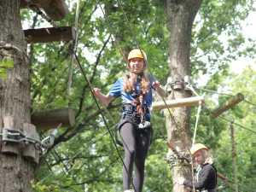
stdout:
<svg viewBox="0 0 256 192">
<path fill-rule="evenodd" d="M 81 73 L 82 73 L 83 76 L 84 76 L 84 79 L 85 79 L 86 83 L 90 86 L 90 92 L 91 92 L 91 94 L 92 94 L 92 96 L 93 96 L 94 101 L 96 102 L 97 108 L 99 109 L 99 111 L 100 111 L 100 113 L 101 113 L 101 115 L 102 115 L 102 119 L 103 119 L 103 121 L 104 121 L 104 124 L 106 125 L 106 127 L 107 127 L 107 129 L 108 129 L 108 132 L 109 132 L 109 135 L 110 135 L 110 137 L 111 137 L 111 139 L 112 139 L 112 141 L 113 141 L 113 145 L 114 145 L 116 151 L 117 151 L 118 154 L 119 154 L 119 158 L 120 158 L 120 160 L 122 161 L 123 166 L 125 167 L 125 172 L 127 173 L 128 177 L 130 177 L 130 180 L 131 180 L 131 176 L 130 176 L 130 174 L 129 174 L 129 172 L 128 172 L 128 169 L 127 169 L 127 167 L 125 166 L 125 162 L 124 162 L 124 160 L 123 160 L 123 158 L 122 158 L 122 155 L 121 155 L 120 152 L 119 152 L 119 148 L 118 148 L 118 146 L 116 145 L 116 143 L 115 143 L 115 141 L 114 141 L 114 138 L 113 138 L 113 135 L 112 135 L 112 133 L 111 133 L 109 127 L 108 127 L 107 120 L 105 119 L 105 117 L 104 117 L 104 115 L 103 115 L 103 113 L 102 113 L 102 109 L 100 108 L 99 103 L 98 103 L 97 100 L 96 100 L 96 96 L 94 96 L 94 94 L 93 94 L 93 92 L 92 92 L 93 87 L 92 87 L 92 85 L 90 84 L 90 81 L 87 79 L 87 77 L 86 77 L 86 75 L 85 75 L 85 73 L 84 73 L 84 69 L 83 69 L 83 67 L 81 66 L 81 63 L 80 63 L 80 61 L 79 61 L 79 58 L 78 58 L 78 56 L 77 56 L 76 54 L 75 54 L 75 59 L 76 59 L 76 61 L 77 61 L 76 63 L 78 64 L 79 69 L 81 70 Z M 104 105 L 103 105 L 103 106 L 104 106 Z M 106 108 L 106 107 L 104 106 L 104 108 Z M 106 109 L 107 109 L 107 108 L 106 108 Z M 108 110 L 108 109 L 107 109 L 107 110 Z M 132 180 L 131 180 L 131 184 L 132 184 L 132 186 L 133 186 L 135 192 L 137 192 L 136 189 L 135 189 L 135 186 L 134 186 L 134 184 L 133 184 L 133 182 L 132 182 Z"/>
</svg>

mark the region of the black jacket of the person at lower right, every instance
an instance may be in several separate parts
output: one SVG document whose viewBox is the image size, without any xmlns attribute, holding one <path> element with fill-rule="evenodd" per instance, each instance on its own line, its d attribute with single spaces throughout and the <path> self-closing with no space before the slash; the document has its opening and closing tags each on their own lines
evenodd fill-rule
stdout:
<svg viewBox="0 0 256 192">
<path fill-rule="evenodd" d="M 184 185 L 193 189 L 193 183 L 189 180 L 183 182 Z M 217 186 L 217 171 L 216 168 L 210 164 L 201 166 L 198 175 L 198 181 L 194 183 L 195 189 L 208 189 L 208 191 L 215 192 Z"/>
</svg>

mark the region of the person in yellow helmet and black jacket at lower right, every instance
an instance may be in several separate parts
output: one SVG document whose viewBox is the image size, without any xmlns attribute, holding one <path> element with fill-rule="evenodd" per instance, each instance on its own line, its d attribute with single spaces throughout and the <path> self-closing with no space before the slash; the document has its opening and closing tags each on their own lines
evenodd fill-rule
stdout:
<svg viewBox="0 0 256 192">
<path fill-rule="evenodd" d="M 209 149 L 205 145 L 197 143 L 190 148 L 190 152 L 198 165 L 194 183 L 196 191 L 216 192 L 217 170 L 212 166 L 212 158 L 208 155 Z M 192 190 L 193 183 L 189 180 L 180 178 L 177 183 L 187 186 L 189 191 L 194 191 Z"/>
</svg>

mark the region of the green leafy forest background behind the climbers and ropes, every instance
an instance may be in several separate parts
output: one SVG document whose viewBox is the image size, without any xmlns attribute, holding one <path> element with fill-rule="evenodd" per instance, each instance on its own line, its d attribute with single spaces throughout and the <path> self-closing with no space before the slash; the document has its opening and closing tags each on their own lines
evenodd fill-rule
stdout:
<svg viewBox="0 0 256 192">
<path fill-rule="evenodd" d="M 69 13 L 57 22 L 59 26 L 74 26 L 76 4 L 73 1 L 67 3 Z M 102 1 L 101 4 L 121 49 L 137 48 L 117 3 Z M 90 83 L 107 93 L 127 69 L 99 5 L 93 0 L 80 3 L 77 55 Z M 170 74 L 169 32 L 162 4 L 160 1 L 127 0 L 123 6 L 140 46 L 148 55 L 150 69 L 165 85 Z M 254 14 L 255 8 L 256 3 L 249 0 L 203 1 L 195 19 L 190 49 L 193 85 L 198 88 L 195 90 L 199 95 L 206 92 L 196 142 L 211 148 L 218 172 L 234 180 L 229 120 L 235 120 L 237 182 L 248 188 L 240 186 L 240 191 L 256 189 L 256 71 L 253 68 L 256 39 L 243 31 L 245 20 Z M 31 10 L 21 9 L 20 13 L 24 28 L 28 23 L 31 24 L 29 28 L 49 26 Z M 119 191 L 122 162 L 96 108 L 90 86 L 75 63 L 71 95 L 67 96 L 72 45 L 73 42 L 28 45 L 32 111 L 65 108 L 68 100 L 76 117 L 76 125 L 61 128 L 54 146 L 41 159 L 34 187 L 36 191 Z M 239 63 L 241 73 L 232 73 L 235 67 L 232 63 L 239 58 L 245 61 Z M 247 65 L 247 61 L 253 61 L 253 66 Z M 212 119 L 209 109 L 216 108 L 238 92 L 245 96 L 245 101 L 224 113 L 224 119 Z M 116 122 L 119 120 L 119 108 L 119 99 L 108 105 L 109 113 Z M 192 107 L 191 137 L 196 113 L 197 107 Z M 103 115 L 108 119 L 108 126 L 113 127 L 108 113 Z M 171 167 L 166 162 L 168 148 L 161 133 L 164 131 L 166 134 L 165 122 L 164 113 L 154 112 L 154 142 L 149 149 L 144 182 L 144 191 L 147 192 L 172 191 L 175 184 L 172 183 Z M 49 132 L 40 131 L 40 135 L 43 138 Z M 123 154 L 122 148 L 119 150 Z M 218 185 L 221 183 L 218 179 Z M 234 190 L 235 184 L 231 182 L 222 189 L 225 192 Z"/>
</svg>

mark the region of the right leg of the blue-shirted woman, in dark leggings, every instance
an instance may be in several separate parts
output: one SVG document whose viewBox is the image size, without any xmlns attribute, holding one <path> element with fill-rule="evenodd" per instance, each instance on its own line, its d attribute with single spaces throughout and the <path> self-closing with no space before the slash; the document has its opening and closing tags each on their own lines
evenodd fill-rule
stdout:
<svg viewBox="0 0 256 192">
<path fill-rule="evenodd" d="M 137 192 L 143 191 L 145 160 L 150 145 L 150 131 L 138 131 L 136 133 L 136 157 L 135 157 L 135 173 L 133 184 Z"/>
</svg>

